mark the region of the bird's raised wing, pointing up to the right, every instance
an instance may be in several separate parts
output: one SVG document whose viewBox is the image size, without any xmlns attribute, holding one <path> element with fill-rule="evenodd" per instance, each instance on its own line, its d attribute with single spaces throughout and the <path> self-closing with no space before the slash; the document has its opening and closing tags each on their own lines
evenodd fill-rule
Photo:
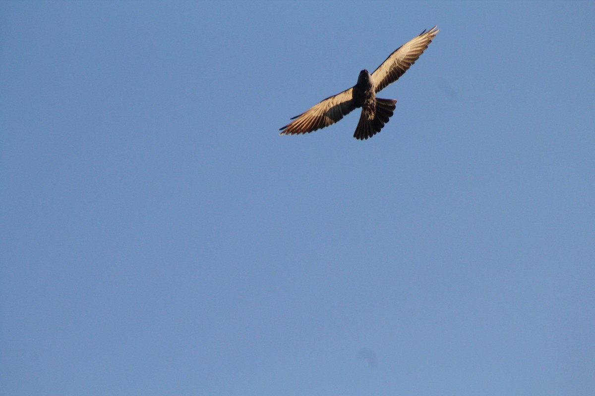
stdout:
<svg viewBox="0 0 595 396">
<path fill-rule="evenodd" d="M 376 92 L 382 90 L 387 85 L 397 81 L 411 65 L 417 61 L 419 55 L 424 53 L 424 50 L 430 45 L 436 34 L 438 33 L 437 26 L 434 26 L 429 31 L 422 31 L 415 39 L 400 46 L 394 51 L 386 61 L 383 62 L 372 73 L 372 80 L 376 85 Z"/>
</svg>

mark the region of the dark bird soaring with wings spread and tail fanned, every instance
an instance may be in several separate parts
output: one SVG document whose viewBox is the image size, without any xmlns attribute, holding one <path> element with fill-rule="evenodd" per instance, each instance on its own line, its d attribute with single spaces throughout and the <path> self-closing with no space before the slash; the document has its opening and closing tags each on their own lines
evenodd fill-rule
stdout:
<svg viewBox="0 0 595 396">
<path fill-rule="evenodd" d="M 405 74 L 430 45 L 438 31 L 437 26 L 429 31 L 422 31 L 419 36 L 390 54 L 372 74 L 365 69 L 362 70 L 359 72 L 357 84 L 342 93 L 327 97 L 305 113 L 293 117 L 292 122 L 279 129 L 281 135 L 316 131 L 339 121 L 352 110 L 362 107 L 353 137 L 359 140 L 371 138 L 380 132 L 385 123 L 389 122 L 397 103 L 393 99 L 377 98 L 376 93 Z"/>
</svg>

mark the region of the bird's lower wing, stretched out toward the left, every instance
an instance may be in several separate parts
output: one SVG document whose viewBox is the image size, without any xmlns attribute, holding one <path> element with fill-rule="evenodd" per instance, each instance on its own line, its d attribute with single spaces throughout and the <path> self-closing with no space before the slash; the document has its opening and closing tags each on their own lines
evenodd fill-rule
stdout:
<svg viewBox="0 0 595 396">
<path fill-rule="evenodd" d="M 305 113 L 293 117 L 294 121 L 279 130 L 282 131 L 281 135 L 305 134 L 306 132 L 316 131 L 339 121 L 355 107 L 353 88 L 349 88 L 340 94 L 327 97 L 327 99 L 322 100 Z"/>
</svg>

